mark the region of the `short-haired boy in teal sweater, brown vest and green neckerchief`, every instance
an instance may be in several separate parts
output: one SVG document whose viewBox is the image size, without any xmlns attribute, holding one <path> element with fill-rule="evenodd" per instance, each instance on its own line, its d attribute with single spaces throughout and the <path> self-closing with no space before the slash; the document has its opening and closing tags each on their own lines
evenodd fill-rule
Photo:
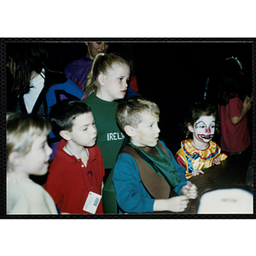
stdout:
<svg viewBox="0 0 256 256">
<path fill-rule="evenodd" d="M 131 138 L 131 142 L 119 154 L 113 171 L 113 184 L 120 212 L 183 212 L 189 199 L 196 198 L 197 189 L 194 184 L 187 185 L 183 166 L 177 164 L 163 142 L 158 143 L 160 110 L 157 105 L 138 96 L 125 98 L 119 102 L 116 114 L 120 128 Z M 138 154 L 153 162 L 158 174 L 161 174 L 158 175 L 153 168 L 149 168 L 144 173 L 144 178 L 142 171 L 148 168 L 148 164 L 146 168 L 142 168 L 137 161 Z M 155 178 L 164 177 L 162 180 L 169 184 L 168 192 L 173 188 L 181 196 L 169 198 L 170 193 L 166 197 L 152 196 L 162 188 L 160 183 L 154 183 L 154 179 L 149 181 L 148 187 L 145 185 L 148 183 L 147 176 L 152 175 L 151 171 L 156 175 Z M 155 189 L 150 190 L 149 187 Z"/>
</svg>

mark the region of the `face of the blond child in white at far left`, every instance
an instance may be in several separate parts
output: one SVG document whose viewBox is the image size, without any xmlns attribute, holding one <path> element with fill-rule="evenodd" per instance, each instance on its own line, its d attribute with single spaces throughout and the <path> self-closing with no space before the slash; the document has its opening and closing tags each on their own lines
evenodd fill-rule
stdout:
<svg viewBox="0 0 256 256">
<path fill-rule="evenodd" d="M 48 161 L 51 153 L 52 149 L 49 148 L 47 137 L 44 135 L 36 137 L 31 150 L 22 157 L 21 172 L 27 176 L 30 174 L 44 175 L 48 172 Z"/>
</svg>

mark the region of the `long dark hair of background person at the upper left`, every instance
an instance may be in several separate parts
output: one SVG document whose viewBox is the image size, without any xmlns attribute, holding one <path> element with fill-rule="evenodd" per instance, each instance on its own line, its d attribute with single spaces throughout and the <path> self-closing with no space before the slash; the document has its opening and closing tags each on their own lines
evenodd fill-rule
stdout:
<svg viewBox="0 0 256 256">
<path fill-rule="evenodd" d="M 7 44 L 10 71 L 14 78 L 11 93 L 18 96 L 28 93 L 31 89 L 30 80 L 32 71 L 41 73 L 43 67 L 47 69 L 48 53 L 42 44 L 14 43 Z"/>
</svg>

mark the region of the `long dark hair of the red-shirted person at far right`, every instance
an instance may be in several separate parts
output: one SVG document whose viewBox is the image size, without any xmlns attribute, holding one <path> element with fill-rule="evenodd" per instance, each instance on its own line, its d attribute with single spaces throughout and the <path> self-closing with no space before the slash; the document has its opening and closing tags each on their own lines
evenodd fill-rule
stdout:
<svg viewBox="0 0 256 256">
<path fill-rule="evenodd" d="M 227 58 L 221 67 L 221 82 L 218 90 L 218 104 L 225 106 L 230 98 L 238 96 L 243 101 L 241 62 L 236 58 Z"/>
</svg>

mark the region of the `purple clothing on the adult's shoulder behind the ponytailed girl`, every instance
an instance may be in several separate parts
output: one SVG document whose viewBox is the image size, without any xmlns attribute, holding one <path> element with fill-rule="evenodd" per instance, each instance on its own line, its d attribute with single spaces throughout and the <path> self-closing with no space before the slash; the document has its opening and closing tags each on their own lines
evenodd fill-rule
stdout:
<svg viewBox="0 0 256 256">
<path fill-rule="evenodd" d="M 67 65 L 64 73 L 67 79 L 72 79 L 81 89 L 85 88 L 85 79 L 90 70 L 92 60 L 83 55 L 76 61 L 73 61 Z"/>
</svg>

